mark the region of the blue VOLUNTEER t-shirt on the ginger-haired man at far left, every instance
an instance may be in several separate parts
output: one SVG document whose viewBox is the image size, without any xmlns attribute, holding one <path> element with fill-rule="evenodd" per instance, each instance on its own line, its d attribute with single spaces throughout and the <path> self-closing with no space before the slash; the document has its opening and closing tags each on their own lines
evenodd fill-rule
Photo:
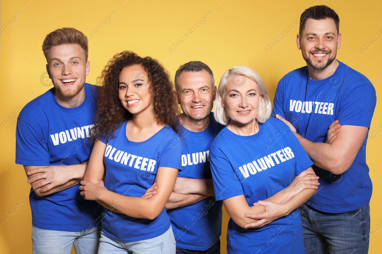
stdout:
<svg viewBox="0 0 382 254">
<path fill-rule="evenodd" d="M 82 164 L 89 160 L 93 144 L 89 129 L 94 126 L 98 86 L 85 83 L 85 100 L 78 107 L 62 107 L 52 88 L 29 102 L 17 119 L 16 163 L 26 166 Z M 59 231 L 82 231 L 102 219 L 102 206 L 84 200 L 80 185 L 37 196 L 29 195 L 32 225 Z"/>
</svg>

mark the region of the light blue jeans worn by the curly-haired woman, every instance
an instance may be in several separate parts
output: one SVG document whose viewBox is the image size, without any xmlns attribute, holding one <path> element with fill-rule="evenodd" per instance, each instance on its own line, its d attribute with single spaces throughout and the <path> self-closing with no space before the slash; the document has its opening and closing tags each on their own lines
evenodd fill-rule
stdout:
<svg viewBox="0 0 382 254">
<path fill-rule="evenodd" d="M 113 240 L 101 231 L 98 254 L 175 254 L 175 237 L 172 227 L 163 235 L 130 243 Z"/>
</svg>

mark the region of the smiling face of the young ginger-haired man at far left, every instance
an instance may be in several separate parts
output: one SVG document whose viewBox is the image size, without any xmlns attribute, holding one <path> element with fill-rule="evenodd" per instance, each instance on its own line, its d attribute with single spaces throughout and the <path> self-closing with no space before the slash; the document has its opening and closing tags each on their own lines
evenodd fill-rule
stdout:
<svg viewBox="0 0 382 254">
<path fill-rule="evenodd" d="M 85 85 L 90 63 L 78 44 L 53 46 L 47 53 L 47 72 L 57 91 L 67 98 L 76 96 Z"/>
</svg>

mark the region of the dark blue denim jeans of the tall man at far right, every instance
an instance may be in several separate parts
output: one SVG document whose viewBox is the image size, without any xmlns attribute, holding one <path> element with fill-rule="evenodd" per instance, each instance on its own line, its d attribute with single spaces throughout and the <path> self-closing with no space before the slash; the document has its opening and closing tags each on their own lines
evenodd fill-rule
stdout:
<svg viewBox="0 0 382 254">
<path fill-rule="evenodd" d="M 301 206 L 306 254 L 367 254 L 370 206 L 351 212 L 321 212 Z"/>
</svg>

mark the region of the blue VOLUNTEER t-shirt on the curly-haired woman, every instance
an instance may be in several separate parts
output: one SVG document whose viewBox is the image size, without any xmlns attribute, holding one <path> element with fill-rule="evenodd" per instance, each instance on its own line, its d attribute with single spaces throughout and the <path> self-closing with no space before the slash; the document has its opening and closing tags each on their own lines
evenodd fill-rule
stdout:
<svg viewBox="0 0 382 254">
<path fill-rule="evenodd" d="M 107 144 L 104 154 L 105 187 L 121 195 L 141 197 L 154 184 L 158 167 L 182 169 L 182 145 L 178 142 L 178 135 L 168 125 L 146 141 L 129 141 L 126 136 L 127 122 L 115 131 L 115 137 L 101 140 Z M 162 235 L 170 228 L 165 208 L 153 220 L 104 210 L 108 215 L 102 220 L 102 230 L 117 241 L 147 240 Z"/>
</svg>

